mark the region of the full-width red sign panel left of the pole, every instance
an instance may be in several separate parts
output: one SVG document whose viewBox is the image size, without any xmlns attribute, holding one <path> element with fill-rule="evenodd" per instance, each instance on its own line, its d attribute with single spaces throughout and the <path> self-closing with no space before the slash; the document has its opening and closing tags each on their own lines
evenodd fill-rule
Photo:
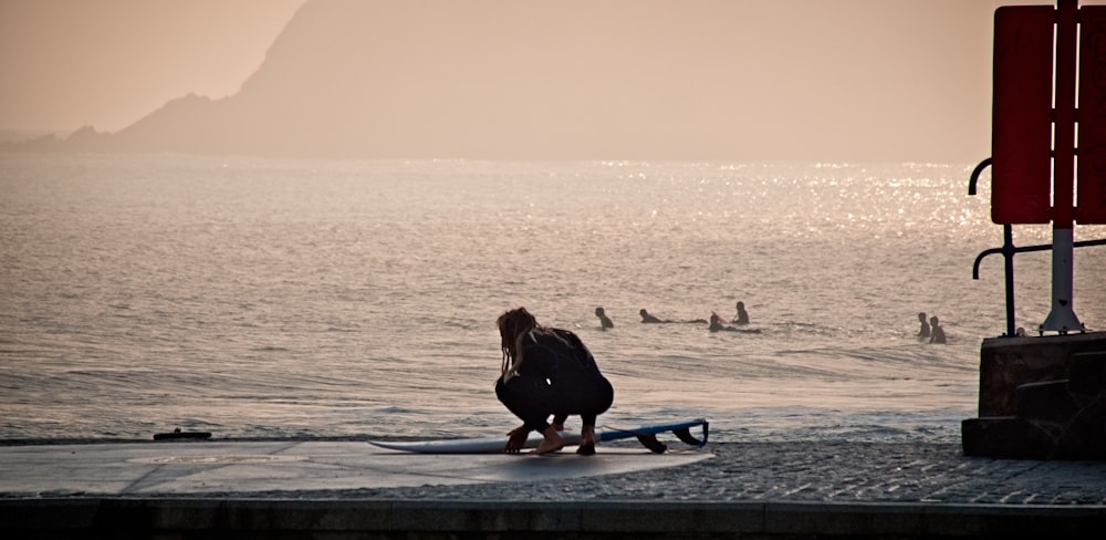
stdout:
<svg viewBox="0 0 1106 540">
<path fill-rule="evenodd" d="M 1051 6 L 994 11 L 991 220 L 1047 224 L 1052 208 Z"/>
</svg>

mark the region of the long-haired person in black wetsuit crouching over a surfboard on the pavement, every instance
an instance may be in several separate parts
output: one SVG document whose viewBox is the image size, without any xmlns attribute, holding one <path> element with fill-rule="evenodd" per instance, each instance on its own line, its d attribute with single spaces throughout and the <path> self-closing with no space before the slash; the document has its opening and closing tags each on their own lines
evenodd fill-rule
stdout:
<svg viewBox="0 0 1106 540">
<path fill-rule="evenodd" d="M 495 324 L 503 350 L 495 396 L 522 420 L 508 434 L 503 451 L 521 450 L 530 432 L 544 438 L 533 454 L 557 451 L 565 445 L 557 427 L 568 415 L 580 415 L 576 454 L 595 454 L 596 418 L 611 408 L 615 391 L 591 351 L 576 334 L 538 324 L 525 308 L 503 313 Z"/>
</svg>

